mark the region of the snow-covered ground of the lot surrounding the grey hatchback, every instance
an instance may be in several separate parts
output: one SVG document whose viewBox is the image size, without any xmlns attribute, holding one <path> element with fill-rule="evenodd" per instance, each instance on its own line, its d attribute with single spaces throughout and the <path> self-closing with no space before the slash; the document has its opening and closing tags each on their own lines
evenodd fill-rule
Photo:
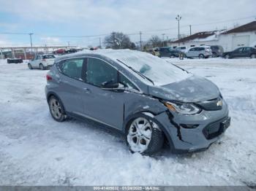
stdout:
<svg viewBox="0 0 256 191">
<path fill-rule="evenodd" d="M 45 101 L 47 71 L 0 60 L 0 184 L 255 184 L 256 60 L 167 61 L 215 82 L 230 106 L 230 128 L 206 152 L 146 157 L 93 122 L 56 122 Z"/>
</svg>

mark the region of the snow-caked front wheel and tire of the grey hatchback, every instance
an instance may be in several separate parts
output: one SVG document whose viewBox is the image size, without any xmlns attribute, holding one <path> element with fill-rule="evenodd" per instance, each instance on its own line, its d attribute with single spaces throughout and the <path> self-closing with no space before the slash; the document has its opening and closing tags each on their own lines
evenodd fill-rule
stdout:
<svg viewBox="0 0 256 191">
<path fill-rule="evenodd" d="M 132 153 L 154 155 L 162 148 L 164 135 L 151 117 L 137 114 L 127 123 L 126 142 Z"/>
</svg>

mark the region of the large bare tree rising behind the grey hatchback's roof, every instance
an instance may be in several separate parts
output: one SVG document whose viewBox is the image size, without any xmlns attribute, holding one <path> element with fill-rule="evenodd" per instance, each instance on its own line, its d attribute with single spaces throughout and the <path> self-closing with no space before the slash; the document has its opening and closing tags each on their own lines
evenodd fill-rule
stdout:
<svg viewBox="0 0 256 191">
<path fill-rule="evenodd" d="M 113 32 L 112 34 L 108 35 L 104 39 L 104 44 L 106 48 L 113 48 L 113 49 L 135 49 L 136 46 L 131 40 L 129 36 L 120 32 Z"/>
</svg>

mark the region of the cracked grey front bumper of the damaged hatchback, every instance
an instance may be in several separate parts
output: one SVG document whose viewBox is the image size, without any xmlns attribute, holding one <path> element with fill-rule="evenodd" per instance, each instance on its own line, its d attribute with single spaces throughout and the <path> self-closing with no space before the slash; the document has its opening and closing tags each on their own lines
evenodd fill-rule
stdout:
<svg viewBox="0 0 256 191">
<path fill-rule="evenodd" d="M 174 153 L 198 152 L 211 146 L 223 136 L 230 125 L 227 104 L 221 110 L 205 111 L 195 115 L 175 114 L 167 110 L 155 116 L 165 131 Z M 195 125 L 196 128 L 184 128 L 181 125 Z"/>
</svg>

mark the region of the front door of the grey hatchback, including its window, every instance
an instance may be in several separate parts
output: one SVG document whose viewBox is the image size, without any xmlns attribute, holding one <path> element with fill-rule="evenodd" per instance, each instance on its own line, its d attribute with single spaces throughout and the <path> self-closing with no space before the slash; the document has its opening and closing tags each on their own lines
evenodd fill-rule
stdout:
<svg viewBox="0 0 256 191">
<path fill-rule="evenodd" d="M 118 71 L 98 58 L 87 58 L 86 87 L 84 87 L 84 114 L 113 128 L 121 130 L 124 120 L 124 91 L 106 88 L 118 84 Z"/>
</svg>

